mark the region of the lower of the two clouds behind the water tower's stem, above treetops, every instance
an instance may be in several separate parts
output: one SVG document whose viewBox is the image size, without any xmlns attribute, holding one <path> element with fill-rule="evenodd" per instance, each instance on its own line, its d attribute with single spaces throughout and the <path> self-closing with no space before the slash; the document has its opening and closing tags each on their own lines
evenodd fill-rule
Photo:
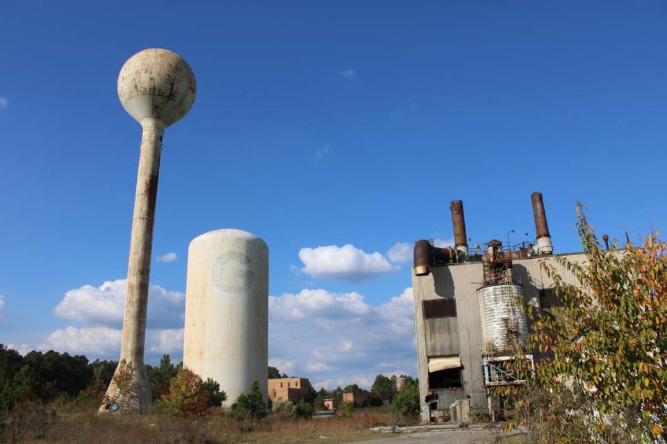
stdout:
<svg viewBox="0 0 667 444">
<path fill-rule="evenodd" d="M 105 326 L 68 327 L 49 334 L 40 350 L 56 350 L 92 357 L 117 357 L 120 354 L 122 329 Z M 146 352 L 163 355 L 183 350 L 183 329 L 149 329 Z"/>
</svg>

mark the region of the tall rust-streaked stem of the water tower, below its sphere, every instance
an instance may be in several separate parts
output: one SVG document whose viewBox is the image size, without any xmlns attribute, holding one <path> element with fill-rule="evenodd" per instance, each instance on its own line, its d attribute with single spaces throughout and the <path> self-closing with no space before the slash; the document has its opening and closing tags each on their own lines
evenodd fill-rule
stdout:
<svg viewBox="0 0 667 444">
<path fill-rule="evenodd" d="M 120 360 L 133 367 L 133 379 L 138 384 L 135 399 L 118 400 L 124 403 L 120 409 L 141 413 L 150 412 L 153 405 L 151 386 L 144 365 L 144 345 L 162 134 L 163 128 L 155 120 L 147 121 L 143 125 L 120 349 Z M 119 364 L 116 374 L 121 367 Z M 107 394 L 112 398 L 118 393 L 115 385 L 112 381 L 107 390 Z"/>
</svg>

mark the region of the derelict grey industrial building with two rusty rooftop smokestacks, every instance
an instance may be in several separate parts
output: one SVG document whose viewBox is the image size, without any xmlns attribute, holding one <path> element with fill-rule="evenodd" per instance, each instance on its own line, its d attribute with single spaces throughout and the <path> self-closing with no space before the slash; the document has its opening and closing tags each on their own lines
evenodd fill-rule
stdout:
<svg viewBox="0 0 667 444">
<path fill-rule="evenodd" d="M 516 246 L 496 239 L 468 246 L 463 203 L 451 204 L 454 246 L 415 243 L 412 284 L 417 336 L 422 421 L 466 420 L 470 409 L 495 416 L 502 400 L 492 388 L 522 384 L 507 370 L 530 325 L 520 300 L 538 309 L 556 305 L 552 282 L 541 261 L 559 268 L 567 283 L 575 279 L 555 261 L 540 193 L 532 194 L 536 241 Z M 583 253 L 568 253 L 583 262 Z M 523 359 L 533 362 L 535 352 Z M 465 407 L 462 407 L 465 406 Z"/>
</svg>

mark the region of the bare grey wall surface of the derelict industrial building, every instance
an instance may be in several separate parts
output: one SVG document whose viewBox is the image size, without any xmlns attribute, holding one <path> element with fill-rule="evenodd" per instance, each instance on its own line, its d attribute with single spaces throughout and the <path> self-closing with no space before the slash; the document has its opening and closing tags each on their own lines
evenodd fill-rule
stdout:
<svg viewBox="0 0 667 444">
<path fill-rule="evenodd" d="M 564 255 L 571 261 L 582 262 L 583 253 Z M 512 275 L 523 286 L 525 302 L 550 305 L 553 301 L 552 282 L 541 270 L 539 262 L 552 263 L 556 255 L 527 257 L 513 261 Z M 566 282 L 575 284 L 575 279 L 558 264 L 557 268 L 566 276 Z M 431 274 L 416 276 L 413 271 L 412 287 L 415 304 L 415 331 L 419 369 L 419 391 L 422 404 L 422 420 L 429 420 L 429 407 L 425 402 L 429 394 L 428 357 L 460 355 L 462 388 L 445 388 L 437 391 L 438 410 L 447 409 L 457 399 L 470 397 L 473 409 L 487 406 L 482 375 L 482 336 L 477 289 L 484 280 L 482 262 L 466 262 L 432 269 Z M 541 289 L 545 298 L 541 300 Z M 456 317 L 425 319 L 422 302 L 438 298 L 454 298 Z"/>
</svg>

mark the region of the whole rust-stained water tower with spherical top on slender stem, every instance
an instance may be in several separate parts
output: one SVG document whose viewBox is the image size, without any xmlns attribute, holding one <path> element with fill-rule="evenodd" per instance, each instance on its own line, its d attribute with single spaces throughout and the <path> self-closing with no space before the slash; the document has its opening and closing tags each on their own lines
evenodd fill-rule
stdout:
<svg viewBox="0 0 667 444">
<path fill-rule="evenodd" d="M 142 127 L 120 350 L 120 361 L 125 365 L 119 364 L 115 373 L 131 381 L 125 387 L 112 381 L 106 391 L 109 402 L 100 407 L 100 412 L 149 413 L 153 407 L 144 366 L 144 342 L 162 135 L 167 126 L 188 113 L 196 89 L 192 69 L 166 49 L 136 53 L 118 76 L 120 102 Z"/>
</svg>

